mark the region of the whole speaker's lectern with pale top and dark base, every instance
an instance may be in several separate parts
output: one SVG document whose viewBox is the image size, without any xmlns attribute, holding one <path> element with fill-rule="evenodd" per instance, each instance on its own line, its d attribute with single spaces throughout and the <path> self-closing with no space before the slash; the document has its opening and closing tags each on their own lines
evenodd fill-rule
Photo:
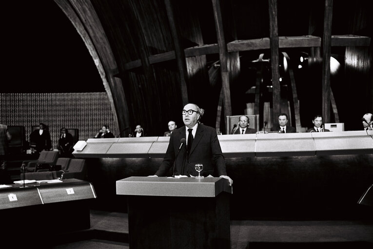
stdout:
<svg viewBox="0 0 373 249">
<path fill-rule="evenodd" d="M 225 178 L 129 177 L 117 181 L 128 196 L 131 249 L 230 248 Z"/>
</svg>

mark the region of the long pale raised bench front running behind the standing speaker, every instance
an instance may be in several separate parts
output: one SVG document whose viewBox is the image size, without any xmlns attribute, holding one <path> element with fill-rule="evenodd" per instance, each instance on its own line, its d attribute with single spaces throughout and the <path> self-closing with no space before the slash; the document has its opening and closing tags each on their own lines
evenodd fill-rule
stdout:
<svg viewBox="0 0 373 249">
<path fill-rule="evenodd" d="M 77 158 L 163 158 L 170 137 L 88 139 Z M 225 158 L 373 154 L 372 131 L 219 135 Z"/>
</svg>

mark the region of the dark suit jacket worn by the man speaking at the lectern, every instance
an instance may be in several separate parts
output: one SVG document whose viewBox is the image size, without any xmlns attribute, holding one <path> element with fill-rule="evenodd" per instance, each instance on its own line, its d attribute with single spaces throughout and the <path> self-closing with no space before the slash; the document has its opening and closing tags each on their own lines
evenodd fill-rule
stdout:
<svg viewBox="0 0 373 249">
<path fill-rule="evenodd" d="M 186 126 L 183 126 L 174 130 L 171 134 L 166 154 L 155 174 L 158 177 L 172 176 L 180 140 L 182 138 L 186 139 L 185 131 Z M 198 124 L 189 158 L 186 153 L 186 144 L 183 144 L 180 149 L 175 163 L 175 175 L 198 176 L 198 172 L 195 169 L 196 163 L 203 164 L 201 176 L 212 175 L 213 177 L 219 177 L 227 175 L 223 153 L 217 139 L 216 130 L 213 127 Z"/>
</svg>

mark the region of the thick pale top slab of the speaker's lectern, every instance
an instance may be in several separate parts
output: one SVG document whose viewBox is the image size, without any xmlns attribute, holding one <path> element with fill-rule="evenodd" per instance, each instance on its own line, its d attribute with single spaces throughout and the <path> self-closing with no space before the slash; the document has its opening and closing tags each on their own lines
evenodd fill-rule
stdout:
<svg viewBox="0 0 373 249">
<path fill-rule="evenodd" d="M 232 193 L 225 178 L 129 177 L 117 181 L 117 195 L 216 197 Z"/>
</svg>

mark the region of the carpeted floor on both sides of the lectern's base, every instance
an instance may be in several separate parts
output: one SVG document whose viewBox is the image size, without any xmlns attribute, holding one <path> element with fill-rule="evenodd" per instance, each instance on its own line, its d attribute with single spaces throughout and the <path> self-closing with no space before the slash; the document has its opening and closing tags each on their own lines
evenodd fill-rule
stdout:
<svg viewBox="0 0 373 249">
<path fill-rule="evenodd" d="M 126 213 L 91 211 L 89 236 L 53 249 L 129 248 Z M 85 238 L 85 239 L 84 239 Z M 231 249 L 373 248 L 373 221 L 231 221 Z"/>
</svg>

